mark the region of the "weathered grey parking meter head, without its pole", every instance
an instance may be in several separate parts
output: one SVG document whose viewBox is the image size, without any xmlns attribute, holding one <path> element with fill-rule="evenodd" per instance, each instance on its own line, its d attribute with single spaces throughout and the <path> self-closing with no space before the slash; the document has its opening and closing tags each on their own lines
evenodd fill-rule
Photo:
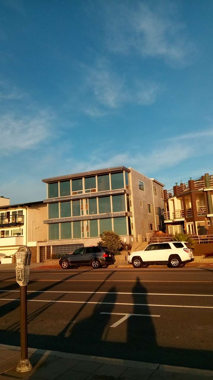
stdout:
<svg viewBox="0 0 213 380">
<path fill-rule="evenodd" d="M 21 245 L 16 251 L 16 281 L 25 286 L 30 278 L 31 251 L 27 245 Z"/>
</svg>

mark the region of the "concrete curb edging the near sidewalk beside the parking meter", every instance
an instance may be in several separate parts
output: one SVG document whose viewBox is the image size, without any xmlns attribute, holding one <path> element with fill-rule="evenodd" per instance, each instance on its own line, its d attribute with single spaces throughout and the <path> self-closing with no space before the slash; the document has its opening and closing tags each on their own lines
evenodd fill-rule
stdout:
<svg viewBox="0 0 213 380">
<path fill-rule="evenodd" d="M 20 351 L 20 347 L 10 346 L 6 344 L 0 344 L 0 348 L 2 348 L 3 350 Z M 128 367 L 135 367 L 135 368 L 154 369 L 154 370 L 159 370 L 159 371 L 164 371 L 164 372 L 178 372 L 182 374 L 202 375 L 202 376 L 213 377 L 213 370 L 207 370 L 207 369 L 168 366 L 166 364 L 145 363 L 142 361 L 134 361 L 134 360 L 103 358 L 100 356 L 78 355 L 78 354 L 72 354 L 72 353 L 60 352 L 60 351 L 41 350 L 37 348 L 28 348 L 28 352 L 36 353 L 36 354 L 40 354 L 44 356 L 55 356 L 57 358 L 92 361 L 96 363 L 114 364 L 117 366 L 128 366 Z"/>
</svg>

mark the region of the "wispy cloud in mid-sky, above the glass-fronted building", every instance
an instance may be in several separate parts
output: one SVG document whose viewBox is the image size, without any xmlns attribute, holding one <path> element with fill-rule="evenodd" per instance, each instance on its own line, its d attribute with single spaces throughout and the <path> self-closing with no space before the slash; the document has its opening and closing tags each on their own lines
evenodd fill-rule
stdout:
<svg viewBox="0 0 213 380">
<path fill-rule="evenodd" d="M 85 67 L 86 82 L 96 106 L 85 107 L 92 117 L 105 114 L 106 109 L 116 109 L 124 104 L 147 106 L 156 101 L 160 85 L 152 80 L 119 75 L 107 60 L 98 60 L 94 67 Z M 101 110 L 100 106 L 105 107 Z"/>
</svg>

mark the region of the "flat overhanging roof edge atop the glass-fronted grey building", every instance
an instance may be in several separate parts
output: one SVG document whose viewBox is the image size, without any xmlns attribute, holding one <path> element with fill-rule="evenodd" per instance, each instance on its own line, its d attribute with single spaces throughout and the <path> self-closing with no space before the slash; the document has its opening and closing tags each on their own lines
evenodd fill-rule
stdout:
<svg viewBox="0 0 213 380">
<path fill-rule="evenodd" d="M 126 168 L 125 166 L 115 166 L 113 168 L 105 168 L 105 169 L 84 171 L 82 173 L 67 174 L 66 176 L 44 178 L 44 179 L 42 179 L 42 182 L 50 183 L 50 182 L 60 181 L 61 179 L 88 177 L 88 176 L 92 176 L 92 175 L 96 175 L 96 174 L 113 173 L 113 172 L 116 172 L 119 170 L 125 170 L 128 173 L 130 173 L 130 169 Z"/>
</svg>

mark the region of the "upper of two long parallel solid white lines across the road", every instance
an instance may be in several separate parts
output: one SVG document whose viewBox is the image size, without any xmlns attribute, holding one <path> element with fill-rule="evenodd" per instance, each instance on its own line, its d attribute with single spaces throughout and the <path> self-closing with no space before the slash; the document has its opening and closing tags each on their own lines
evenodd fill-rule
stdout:
<svg viewBox="0 0 213 380">
<path fill-rule="evenodd" d="M 0 290 L 3 293 L 14 293 L 19 292 L 19 290 Z M 146 295 L 146 296 L 194 296 L 194 297 L 213 297 L 213 294 L 179 294 L 179 293 L 133 293 L 133 292 L 122 292 L 122 291 L 61 291 L 61 290 L 27 290 L 27 293 L 81 293 L 81 294 L 134 294 L 134 295 Z"/>
</svg>

